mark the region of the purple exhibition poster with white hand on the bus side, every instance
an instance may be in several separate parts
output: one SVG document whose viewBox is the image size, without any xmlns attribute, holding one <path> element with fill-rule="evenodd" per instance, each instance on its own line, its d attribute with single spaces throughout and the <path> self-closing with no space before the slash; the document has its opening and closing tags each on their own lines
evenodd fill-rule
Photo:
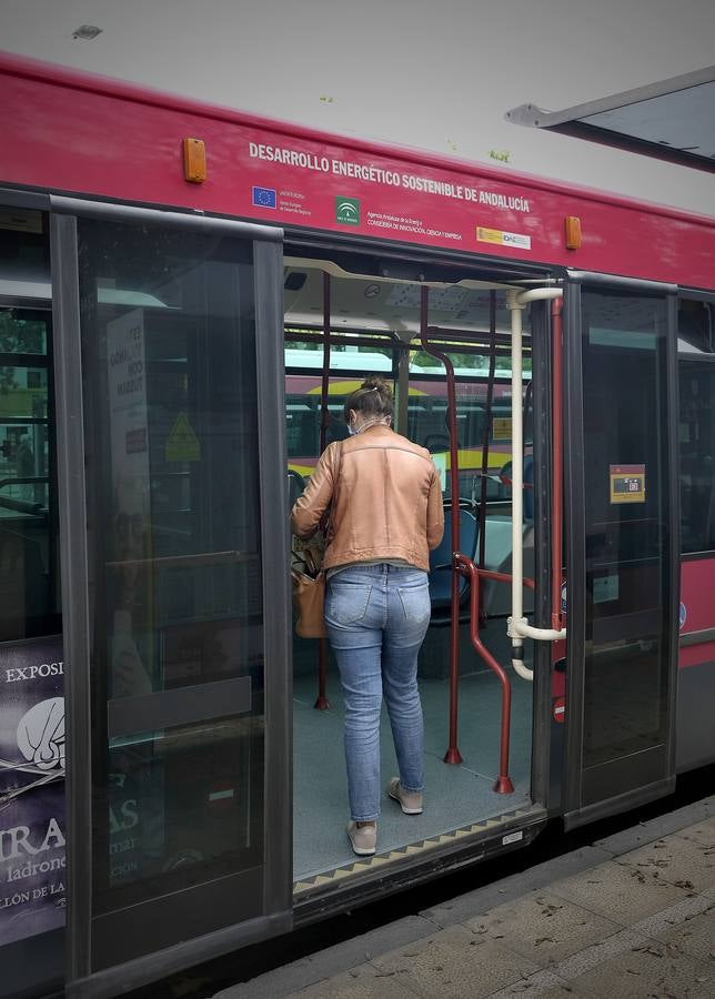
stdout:
<svg viewBox="0 0 715 999">
<path fill-rule="evenodd" d="M 0 646 L 0 946 L 64 924 L 62 639 Z"/>
</svg>

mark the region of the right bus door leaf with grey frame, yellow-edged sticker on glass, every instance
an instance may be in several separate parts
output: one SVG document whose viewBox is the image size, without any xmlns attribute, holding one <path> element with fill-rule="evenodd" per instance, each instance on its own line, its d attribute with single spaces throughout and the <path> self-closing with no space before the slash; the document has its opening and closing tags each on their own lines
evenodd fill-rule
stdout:
<svg viewBox="0 0 715 999">
<path fill-rule="evenodd" d="M 675 783 L 675 291 L 566 282 L 566 828 Z"/>
</svg>

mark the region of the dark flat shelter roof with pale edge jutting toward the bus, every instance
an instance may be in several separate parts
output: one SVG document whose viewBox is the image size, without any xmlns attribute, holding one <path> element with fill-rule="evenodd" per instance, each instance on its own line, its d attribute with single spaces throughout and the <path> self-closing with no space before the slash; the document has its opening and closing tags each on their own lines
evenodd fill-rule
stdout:
<svg viewBox="0 0 715 999">
<path fill-rule="evenodd" d="M 564 111 L 522 104 L 505 118 L 715 172 L 715 65 Z"/>
</svg>

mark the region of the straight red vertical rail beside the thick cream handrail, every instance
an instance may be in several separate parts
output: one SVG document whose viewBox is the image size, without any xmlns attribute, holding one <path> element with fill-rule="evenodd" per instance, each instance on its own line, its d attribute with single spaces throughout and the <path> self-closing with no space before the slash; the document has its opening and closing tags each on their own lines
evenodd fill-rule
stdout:
<svg viewBox="0 0 715 999">
<path fill-rule="evenodd" d="M 551 303 L 552 335 L 552 483 L 551 483 L 551 626 L 563 627 L 561 614 L 561 573 L 563 537 L 563 398 L 564 369 L 562 354 L 562 309 L 563 300 Z"/>
</svg>

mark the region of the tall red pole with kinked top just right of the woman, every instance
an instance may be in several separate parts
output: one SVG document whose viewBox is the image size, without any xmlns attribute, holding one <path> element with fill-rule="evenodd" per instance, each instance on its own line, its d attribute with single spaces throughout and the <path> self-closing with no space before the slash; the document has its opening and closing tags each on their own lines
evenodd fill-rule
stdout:
<svg viewBox="0 0 715 999">
<path fill-rule="evenodd" d="M 444 364 L 447 385 L 447 415 L 450 421 L 450 483 L 452 492 L 452 551 L 460 551 L 460 458 L 456 437 L 456 393 L 454 391 L 454 365 L 442 351 L 437 351 L 429 340 L 427 316 L 430 311 L 430 289 L 422 285 L 420 300 L 420 341 L 425 353 Z M 462 754 L 457 747 L 460 710 L 460 578 L 452 567 L 452 607 L 450 616 L 450 743 L 444 761 L 461 764 Z"/>
</svg>

